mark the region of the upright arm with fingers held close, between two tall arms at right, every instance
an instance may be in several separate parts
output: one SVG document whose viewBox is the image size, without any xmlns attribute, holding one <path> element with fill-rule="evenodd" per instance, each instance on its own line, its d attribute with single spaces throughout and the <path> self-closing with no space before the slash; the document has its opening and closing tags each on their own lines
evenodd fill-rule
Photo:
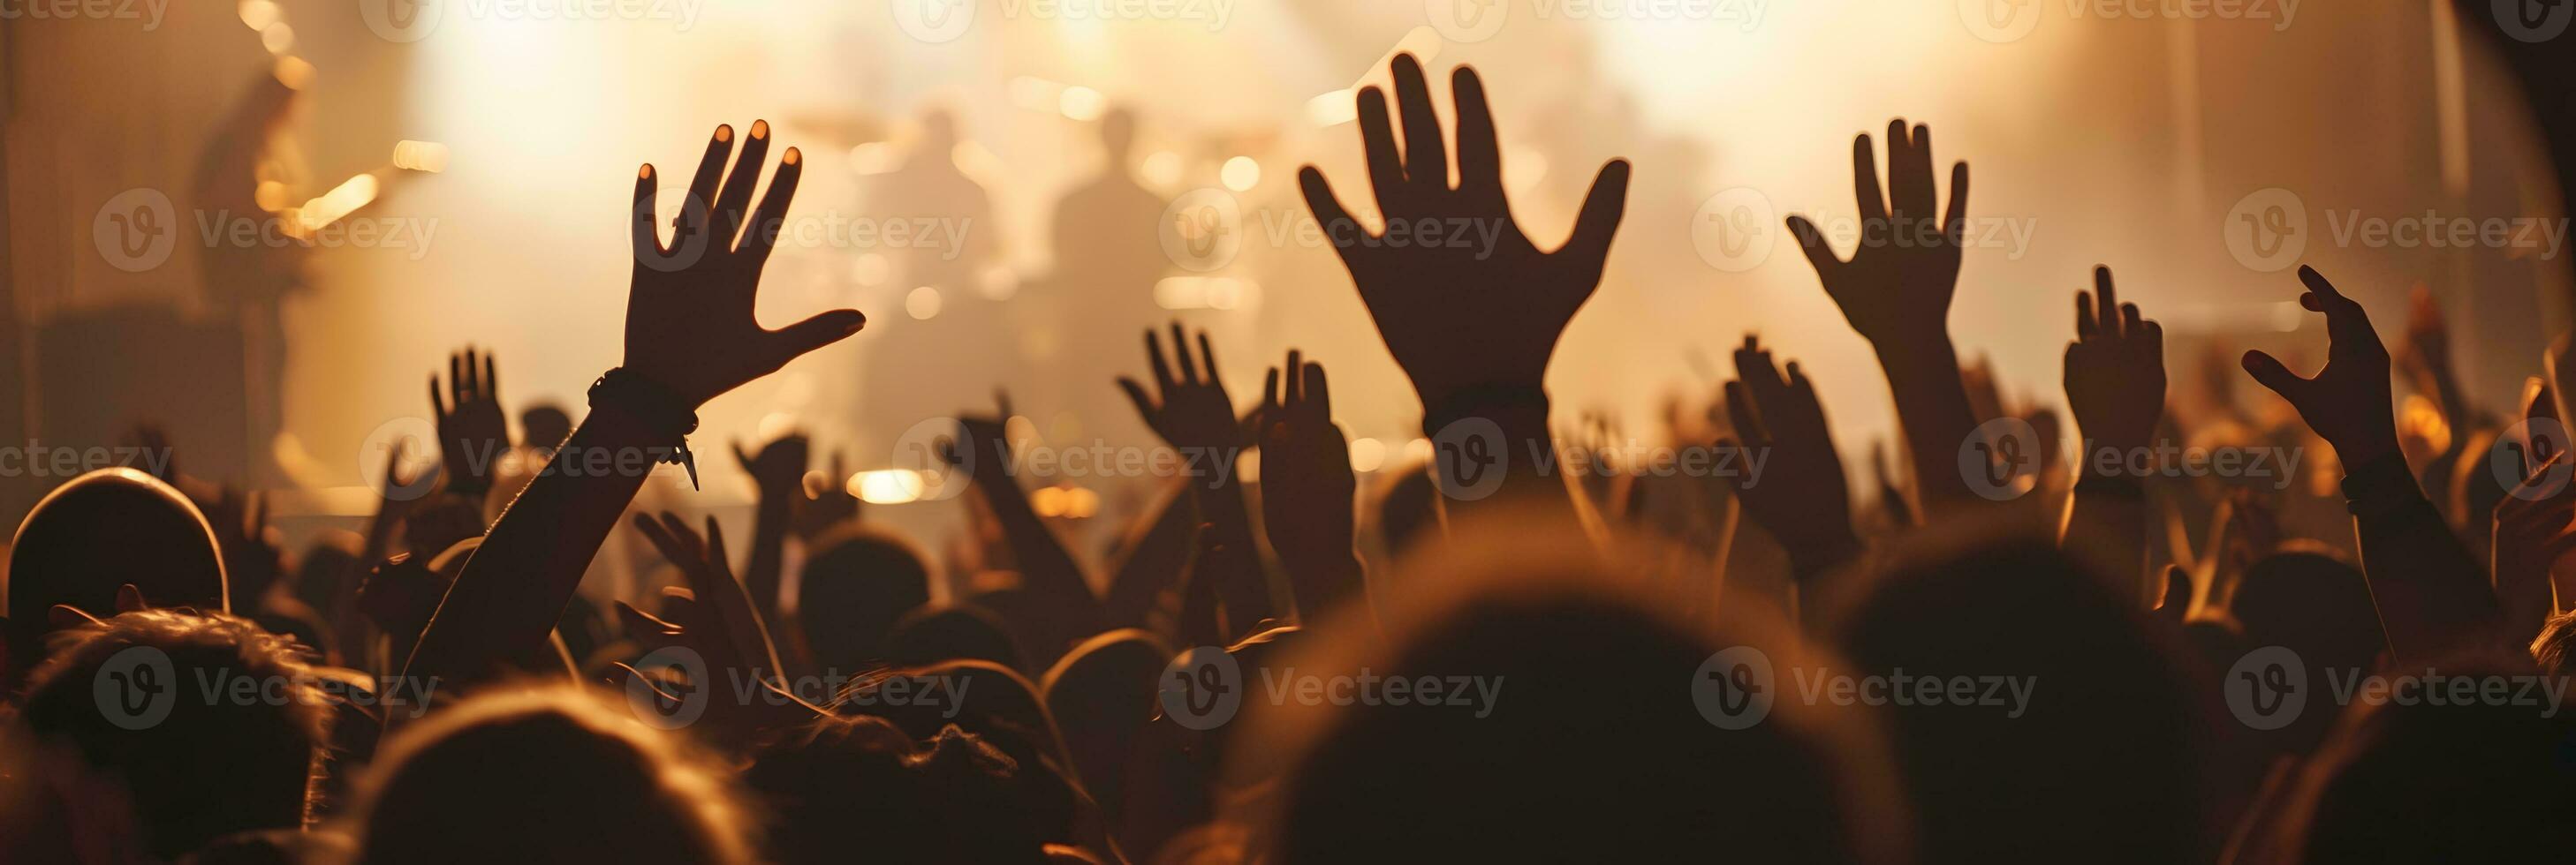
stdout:
<svg viewBox="0 0 2576 865">
<path fill-rule="evenodd" d="M 2110 268 L 2094 268 L 2094 291 L 2076 291 L 2076 340 L 2066 345 L 2066 407 L 2084 445 L 2076 507 L 2058 543 L 2115 564 L 2117 572 L 2102 574 L 2112 592 L 2146 605 L 2164 587 L 2146 579 L 2146 479 L 2128 469 L 2164 417 L 2164 324 L 2138 317 L 2138 304 L 2120 304 Z"/>
</svg>

